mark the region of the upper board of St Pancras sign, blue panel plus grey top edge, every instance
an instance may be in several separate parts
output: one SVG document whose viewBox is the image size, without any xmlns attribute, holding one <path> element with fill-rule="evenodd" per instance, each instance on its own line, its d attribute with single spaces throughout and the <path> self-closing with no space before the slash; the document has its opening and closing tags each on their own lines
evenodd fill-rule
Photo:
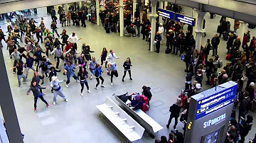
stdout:
<svg viewBox="0 0 256 143">
<path fill-rule="evenodd" d="M 223 84 L 223 86 L 218 86 L 217 91 L 215 91 L 215 88 L 210 88 L 209 90 L 196 95 L 198 97 L 202 96 L 203 98 L 198 98 L 197 100 L 195 120 L 203 118 L 210 113 L 214 113 L 215 111 L 234 103 L 238 85 L 228 85 L 228 83 Z"/>
</svg>

